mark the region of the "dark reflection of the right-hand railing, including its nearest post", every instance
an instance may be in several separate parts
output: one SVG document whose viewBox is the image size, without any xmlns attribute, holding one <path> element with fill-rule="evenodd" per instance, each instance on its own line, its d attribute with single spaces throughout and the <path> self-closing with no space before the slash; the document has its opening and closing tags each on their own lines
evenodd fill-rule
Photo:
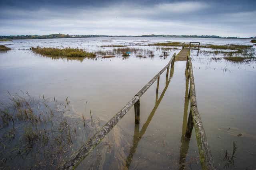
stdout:
<svg viewBox="0 0 256 170">
<path fill-rule="evenodd" d="M 181 136 L 181 146 L 180 146 L 180 160 L 179 160 L 180 170 L 185 169 L 184 163 L 186 162 L 186 155 L 188 154 L 190 137 L 191 137 L 192 129 L 194 126 L 191 112 L 188 116 L 188 104 L 190 99 L 190 95 L 188 92 L 188 83 L 189 83 L 188 70 L 189 70 L 189 67 L 186 67 L 186 71 L 185 71 L 186 91 L 185 91 L 184 115 L 183 115 L 182 136 Z M 188 122 L 187 122 L 187 119 L 188 119 Z"/>
</svg>

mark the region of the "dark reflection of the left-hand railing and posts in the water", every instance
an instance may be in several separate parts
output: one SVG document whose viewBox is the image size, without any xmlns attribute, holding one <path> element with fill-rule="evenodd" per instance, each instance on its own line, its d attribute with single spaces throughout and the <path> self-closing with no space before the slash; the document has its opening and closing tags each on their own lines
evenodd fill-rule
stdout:
<svg viewBox="0 0 256 170">
<path fill-rule="evenodd" d="M 136 152 L 136 148 L 138 146 L 138 143 L 140 141 L 140 139 L 142 138 L 142 136 L 145 134 L 147 128 L 148 128 L 148 125 L 150 124 L 155 112 L 156 112 L 156 109 L 158 108 L 159 104 L 161 103 L 163 97 L 164 97 L 164 94 L 170 84 L 170 81 L 172 79 L 172 76 L 173 76 L 173 73 L 174 73 L 174 61 L 175 61 L 175 58 L 173 59 L 173 62 L 172 62 L 172 66 L 171 66 L 171 70 L 170 70 L 170 77 L 169 79 L 166 79 L 166 84 L 165 84 L 165 87 L 164 87 L 164 90 L 163 92 L 161 93 L 159 99 L 158 99 L 158 88 L 159 88 L 159 77 L 157 79 L 157 87 L 156 87 L 156 105 L 154 106 L 154 108 L 152 109 L 150 115 L 148 116 L 148 119 L 147 121 L 144 123 L 144 125 L 142 126 L 141 130 L 139 131 L 139 124 L 136 124 L 135 123 L 135 127 L 134 127 L 134 136 L 133 136 L 133 143 L 132 143 L 132 148 L 130 148 L 130 153 L 126 159 L 126 167 L 129 169 L 130 167 L 130 164 L 132 162 L 132 158 L 133 158 L 133 155 L 134 153 Z M 169 69 L 167 68 L 167 72 L 166 72 L 166 75 L 168 76 L 168 72 L 169 72 Z"/>
</svg>

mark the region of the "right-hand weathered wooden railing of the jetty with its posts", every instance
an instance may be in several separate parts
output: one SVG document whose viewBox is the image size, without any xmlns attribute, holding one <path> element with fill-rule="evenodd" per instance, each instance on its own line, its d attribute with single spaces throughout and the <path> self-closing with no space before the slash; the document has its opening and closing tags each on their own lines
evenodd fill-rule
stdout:
<svg viewBox="0 0 256 170">
<path fill-rule="evenodd" d="M 190 138 L 193 127 L 195 128 L 196 140 L 199 150 L 199 157 L 201 167 L 203 170 L 216 170 L 210 147 L 206 138 L 203 123 L 198 112 L 196 104 L 196 89 L 194 83 L 193 66 L 191 58 L 187 57 L 185 75 L 190 80 L 190 90 L 188 92 L 188 98 L 190 97 L 190 114 L 188 116 L 188 123 L 185 136 Z"/>
</svg>

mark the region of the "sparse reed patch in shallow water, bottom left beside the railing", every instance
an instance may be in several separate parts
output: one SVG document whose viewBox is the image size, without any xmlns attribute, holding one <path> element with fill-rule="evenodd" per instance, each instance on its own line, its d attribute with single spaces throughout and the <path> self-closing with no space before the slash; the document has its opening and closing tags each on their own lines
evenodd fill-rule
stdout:
<svg viewBox="0 0 256 170">
<path fill-rule="evenodd" d="M 0 104 L 1 168 L 56 169 L 99 128 L 92 117 L 68 117 L 68 97 L 60 103 L 22 94 L 9 93 Z"/>
</svg>

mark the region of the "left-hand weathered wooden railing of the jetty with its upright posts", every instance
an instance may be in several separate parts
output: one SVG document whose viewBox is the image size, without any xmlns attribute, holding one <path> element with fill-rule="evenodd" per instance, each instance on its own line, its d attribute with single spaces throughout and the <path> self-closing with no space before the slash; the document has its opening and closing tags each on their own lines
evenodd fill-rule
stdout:
<svg viewBox="0 0 256 170">
<path fill-rule="evenodd" d="M 148 90 L 148 88 L 158 79 L 159 85 L 159 77 L 160 75 L 167 69 L 166 71 L 166 79 L 168 77 L 168 72 L 171 67 L 174 65 L 176 53 L 174 53 L 168 62 L 168 64 L 161 70 L 159 73 L 157 73 L 124 107 L 121 109 L 114 117 L 106 123 L 92 138 L 90 138 L 85 144 L 82 145 L 82 147 L 71 155 L 71 157 L 62 164 L 62 166 L 59 167 L 60 170 L 68 170 L 68 169 L 74 169 L 76 168 L 90 152 L 100 143 L 100 141 L 110 132 L 110 130 L 126 115 L 126 113 L 131 109 L 131 107 L 134 105 L 134 111 L 135 111 L 135 124 L 138 124 L 140 122 L 140 97 Z M 158 87 L 157 87 L 158 91 Z"/>
</svg>

